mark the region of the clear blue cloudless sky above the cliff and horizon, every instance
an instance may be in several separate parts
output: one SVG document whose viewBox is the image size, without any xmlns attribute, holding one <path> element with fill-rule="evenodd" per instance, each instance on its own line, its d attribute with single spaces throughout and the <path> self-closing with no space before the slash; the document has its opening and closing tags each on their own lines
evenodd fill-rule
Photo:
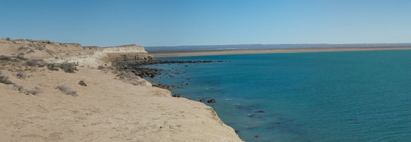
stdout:
<svg viewBox="0 0 411 142">
<path fill-rule="evenodd" d="M 411 1 L 4 1 L 0 37 L 113 46 L 411 42 Z"/>
</svg>

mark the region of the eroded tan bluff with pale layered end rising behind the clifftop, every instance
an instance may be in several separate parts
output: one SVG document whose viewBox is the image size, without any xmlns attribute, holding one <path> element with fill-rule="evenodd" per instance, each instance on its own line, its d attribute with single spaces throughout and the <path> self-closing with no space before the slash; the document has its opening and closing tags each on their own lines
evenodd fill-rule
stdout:
<svg viewBox="0 0 411 142">
<path fill-rule="evenodd" d="M 22 56 L 28 59 L 43 59 L 47 62 L 76 62 L 95 68 L 113 62 L 150 60 L 142 46 L 136 44 L 101 48 L 82 46 L 79 43 L 60 43 L 47 40 L 0 39 L 0 53 L 6 56 Z"/>
</svg>

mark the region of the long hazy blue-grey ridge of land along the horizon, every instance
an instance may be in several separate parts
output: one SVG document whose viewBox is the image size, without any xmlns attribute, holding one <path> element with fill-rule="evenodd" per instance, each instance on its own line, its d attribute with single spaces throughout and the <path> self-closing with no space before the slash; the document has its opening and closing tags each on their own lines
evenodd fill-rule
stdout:
<svg viewBox="0 0 411 142">
<path fill-rule="evenodd" d="M 411 46 L 411 43 L 360 43 L 360 44 L 233 44 L 233 45 L 184 45 L 148 46 L 150 51 L 208 51 L 208 50 L 257 50 L 257 49 L 303 49 L 303 48 L 383 48 Z"/>
</svg>

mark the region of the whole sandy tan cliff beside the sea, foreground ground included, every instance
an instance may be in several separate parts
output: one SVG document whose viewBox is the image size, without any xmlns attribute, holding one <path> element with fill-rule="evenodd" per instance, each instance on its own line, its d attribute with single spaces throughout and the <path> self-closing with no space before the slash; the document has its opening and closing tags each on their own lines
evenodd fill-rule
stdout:
<svg viewBox="0 0 411 142">
<path fill-rule="evenodd" d="M 121 80 L 115 70 L 93 68 L 109 65 L 113 53 L 135 52 L 137 54 L 133 56 L 140 53 L 146 56 L 143 49 L 133 49 L 135 46 L 123 47 L 124 50 L 119 51 L 113 47 L 105 51 L 99 47 L 84 48 L 76 43 L 0 40 L 0 55 L 14 56 L 13 59 L 20 54 L 29 59 L 78 61 L 80 64 L 78 70 L 70 74 L 63 70 L 51 71 L 47 66 L 27 66 L 27 61 L 0 60 L 1 75 L 8 76 L 15 84 L 0 83 L 0 139 L 241 141 L 207 105 L 173 98 L 170 91 L 147 84 L 132 85 Z M 25 78 L 19 79 L 17 76 L 21 72 Z M 81 80 L 87 86 L 79 85 Z M 65 94 L 57 89 L 59 85 L 76 91 L 78 96 Z M 33 95 L 16 86 L 41 91 Z"/>
</svg>

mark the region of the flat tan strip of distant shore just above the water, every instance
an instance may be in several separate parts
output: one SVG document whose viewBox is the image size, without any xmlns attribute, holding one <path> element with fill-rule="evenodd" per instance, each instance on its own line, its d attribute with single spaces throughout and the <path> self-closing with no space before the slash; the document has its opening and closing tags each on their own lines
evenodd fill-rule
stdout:
<svg viewBox="0 0 411 142">
<path fill-rule="evenodd" d="M 269 53 L 302 53 L 302 52 L 338 52 L 338 51 L 383 51 L 383 50 L 411 50 L 407 47 L 385 48 L 308 48 L 308 49 L 261 49 L 261 50 L 210 50 L 210 51 L 152 51 L 154 57 L 184 57 L 210 56 L 235 54 L 269 54 Z"/>
</svg>

